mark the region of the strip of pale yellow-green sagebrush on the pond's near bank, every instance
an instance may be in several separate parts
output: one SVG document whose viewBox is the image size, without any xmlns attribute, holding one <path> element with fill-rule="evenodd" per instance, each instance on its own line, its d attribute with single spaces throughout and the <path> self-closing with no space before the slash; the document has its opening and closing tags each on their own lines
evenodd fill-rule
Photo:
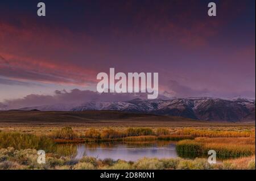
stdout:
<svg viewBox="0 0 256 181">
<path fill-rule="evenodd" d="M 47 154 L 46 164 L 37 162 L 35 149 L 15 150 L 14 148 L 0 149 L 0 169 L 255 169 L 255 156 L 227 160 L 222 163 L 209 164 L 207 159 L 193 160 L 182 158 L 141 158 L 136 162 L 126 162 L 113 159 L 96 159 L 83 157 L 80 161 L 71 157 L 61 157 L 58 154 Z"/>
</svg>

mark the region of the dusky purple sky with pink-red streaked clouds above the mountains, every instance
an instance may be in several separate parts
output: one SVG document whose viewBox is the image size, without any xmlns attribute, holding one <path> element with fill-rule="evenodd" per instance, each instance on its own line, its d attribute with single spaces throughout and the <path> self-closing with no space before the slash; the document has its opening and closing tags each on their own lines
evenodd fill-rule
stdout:
<svg viewBox="0 0 256 181">
<path fill-rule="evenodd" d="M 0 2 L 2 104 L 86 100 L 110 68 L 157 72 L 168 97 L 255 99 L 254 0 L 41 2 Z"/>
</svg>

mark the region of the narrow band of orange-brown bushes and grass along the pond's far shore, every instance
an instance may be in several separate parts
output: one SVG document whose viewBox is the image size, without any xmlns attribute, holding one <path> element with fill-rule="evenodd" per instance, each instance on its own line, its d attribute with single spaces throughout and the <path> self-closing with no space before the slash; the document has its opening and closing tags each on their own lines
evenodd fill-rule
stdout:
<svg viewBox="0 0 256 181">
<path fill-rule="evenodd" d="M 70 127 L 64 127 L 50 134 L 56 142 L 100 142 L 100 141 L 152 141 L 152 140 L 193 140 L 196 137 L 209 138 L 237 138 L 252 137 L 255 130 L 197 130 L 193 128 L 126 128 L 126 129 L 95 129 L 90 128 L 84 132 L 74 132 Z"/>
</svg>

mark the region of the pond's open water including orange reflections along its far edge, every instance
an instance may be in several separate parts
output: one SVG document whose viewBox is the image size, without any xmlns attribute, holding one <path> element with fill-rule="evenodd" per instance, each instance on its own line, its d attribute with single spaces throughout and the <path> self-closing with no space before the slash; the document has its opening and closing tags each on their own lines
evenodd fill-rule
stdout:
<svg viewBox="0 0 256 181">
<path fill-rule="evenodd" d="M 140 158 L 177 158 L 175 142 L 111 142 L 101 144 L 79 144 L 75 159 L 84 155 L 98 159 L 112 158 L 137 161 Z"/>
</svg>

